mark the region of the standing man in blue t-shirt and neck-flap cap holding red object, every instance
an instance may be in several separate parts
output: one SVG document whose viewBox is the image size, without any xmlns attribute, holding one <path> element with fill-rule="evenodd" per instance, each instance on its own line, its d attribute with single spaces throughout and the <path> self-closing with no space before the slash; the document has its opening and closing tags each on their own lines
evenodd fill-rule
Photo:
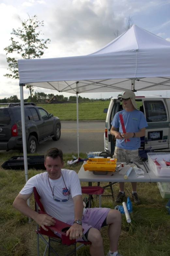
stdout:
<svg viewBox="0 0 170 256">
<path fill-rule="evenodd" d="M 137 110 L 135 94 L 133 91 L 125 91 L 123 95 L 118 99 L 122 99 L 123 101 L 123 110 L 116 113 L 111 123 L 112 128 L 110 130 L 110 133 L 116 138 L 116 147 L 113 157 L 117 158 L 118 162 L 137 162 L 139 158 L 138 149 L 141 145 L 140 137 L 145 136 L 147 121 L 144 114 L 141 111 Z M 122 114 L 126 133 L 123 133 L 119 114 Z M 119 131 L 117 131 L 117 128 L 119 128 Z M 127 139 L 130 139 L 130 141 Z M 131 197 L 136 204 L 140 204 L 140 200 L 138 199 L 138 195 L 136 192 L 137 183 L 132 182 L 131 185 Z M 119 193 L 116 197 L 115 202 L 121 203 L 124 197 L 124 182 L 120 182 Z"/>
</svg>

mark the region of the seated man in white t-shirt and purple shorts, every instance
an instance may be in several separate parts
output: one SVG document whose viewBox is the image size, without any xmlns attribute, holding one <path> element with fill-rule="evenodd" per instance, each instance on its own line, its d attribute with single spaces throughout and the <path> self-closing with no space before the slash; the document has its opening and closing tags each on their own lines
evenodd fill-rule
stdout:
<svg viewBox="0 0 170 256">
<path fill-rule="evenodd" d="M 83 208 L 81 185 L 78 175 L 73 170 L 62 169 L 63 153 L 57 148 L 50 148 L 44 156 L 47 172 L 30 178 L 13 202 L 13 206 L 22 214 L 34 219 L 44 230 L 45 226 L 54 225 L 53 219 L 59 219 L 70 225 L 67 236 L 70 239 L 82 240 L 82 230 L 86 239 L 91 242 L 90 254 L 104 256 L 102 237 L 99 229 L 109 225 L 110 250 L 107 256 L 121 256 L 117 244 L 121 231 L 121 214 L 109 208 Z M 45 212 L 38 214 L 26 203 L 36 187 Z"/>
</svg>

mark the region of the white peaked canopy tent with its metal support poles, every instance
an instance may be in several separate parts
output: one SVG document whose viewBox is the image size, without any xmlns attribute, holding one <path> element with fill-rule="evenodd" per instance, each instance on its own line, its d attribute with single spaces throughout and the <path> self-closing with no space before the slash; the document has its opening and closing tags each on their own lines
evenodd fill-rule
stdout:
<svg viewBox="0 0 170 256">
<path fill-rule="evenodd" d="M 49 59 L 21 59 L 18 60 L 18 69 L 27 181 L 23 86 L 32 85 L 77 94 L 78 137 L 79 93 L 170 89 L 170 42 L 133 25 L 93 54 Z"/>
</svg>

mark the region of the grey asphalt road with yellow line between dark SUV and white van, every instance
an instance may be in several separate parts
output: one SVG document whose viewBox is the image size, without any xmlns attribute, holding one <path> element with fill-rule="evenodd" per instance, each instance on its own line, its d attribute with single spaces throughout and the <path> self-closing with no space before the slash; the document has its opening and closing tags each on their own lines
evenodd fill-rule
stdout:
<svg viewBox="0 0 170 256">
<path fill-rule="evenodd" d="M 79 152 L 104 151 L 105 121 L 79 121 Z M 38 145 L 38 153 L 44 154 L 50 147 L 57 147 L 63 153 L 77 153 L 77 122 L 61 121 L 61 137 Z"/>
</svg>

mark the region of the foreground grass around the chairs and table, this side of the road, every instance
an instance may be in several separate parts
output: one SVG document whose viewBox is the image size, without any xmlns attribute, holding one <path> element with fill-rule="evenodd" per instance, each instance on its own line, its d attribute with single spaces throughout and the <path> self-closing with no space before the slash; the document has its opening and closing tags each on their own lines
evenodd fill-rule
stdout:
<svg viewBox="0 0 170 256">
<path fill-rule="evenodd" d="M 76 172 L 81 164 L 67 166 L 67 161 L 72 159 L 70 154 L 64 155 L 65 168 L 74 169 Z M 0 152 L 0 165 L 12 155 L 20 153 Z M 85 154 L 80 154 L 84 158 Z M 34 169 L 29 170 L 29 178 L 40 173 Z M 36 223 L 28 223 L 28 218 L 12 207 L 12 202 L 25 184 L 24 171 L 4 170 L 0 167 L 0 256 L 36 256 Z M 107 183 L 102 183 L 104 186 Z M 87 185 L 83 182 L 82 185 Z M 131 194 L 131 184 L 126 183 L 126 196 Z M 118 185 L 113 186 L 114 195 Z M 110 190 L 105 194 L 110 194 Z M 138 183 L 138 195 L 141 205 L 133 204 L 131 223 L 126 222 L 122 215 L 122 229 L 118 250 L 123 256 L 169 256 L 170 255 L 170 215 L 165 208 L 168 200 L 162 199 L 156 183 Z M 102 207 L 114 208 L 116 205 L 111 197 L 102 198 Z M 34 209 L 34 199 L 30 199 Z M 98 206 L 99 201 L 94 197 L 92 206 Z M 105 254 L 109 249 L 107 236 L 108 227 L 101 229 Z M 56 245 L 55 245 L 56 246 Z M 43 255 L 45 245 L 40 240 L 40 255 Z M 61 252 L 70 248 L 60 247 Z M 53 255 L 53 254 L 51 254 Z M 63 255 L 61 253 L 61 255 Z M 83 247 L 77 251 L 77 256 L 89 256 L 89 248 Z"/>
</svg>

